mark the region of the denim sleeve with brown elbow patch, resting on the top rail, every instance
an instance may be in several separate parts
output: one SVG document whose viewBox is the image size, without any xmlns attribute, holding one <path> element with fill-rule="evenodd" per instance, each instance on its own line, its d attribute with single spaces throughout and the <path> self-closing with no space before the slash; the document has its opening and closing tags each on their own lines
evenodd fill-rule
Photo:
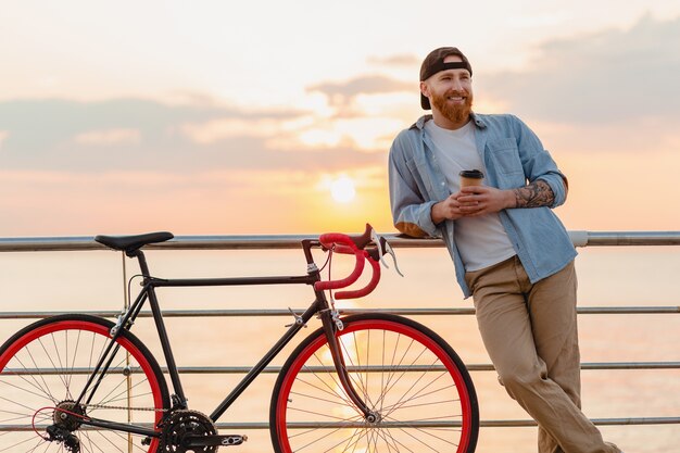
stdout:
<svg viewBox="0 0 680 453">
<path fill-rule="evenodd" d="M 437 201 L 426 200 L 418 187 L 417 175 L 406 165 L 406 147 L 412 146 L 404 133 L 396 137 L 390 149 L 389 188 L 392 222 L 404 235 L 415 238 L 437 237 L 439 230 L 432 223 L 431 210 Z"/>
</svg>

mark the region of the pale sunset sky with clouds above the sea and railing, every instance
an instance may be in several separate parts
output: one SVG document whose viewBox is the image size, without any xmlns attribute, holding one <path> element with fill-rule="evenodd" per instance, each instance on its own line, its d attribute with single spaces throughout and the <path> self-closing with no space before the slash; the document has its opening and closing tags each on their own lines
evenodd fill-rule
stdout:
<svg viewBox="0 0 680 453">
<path fill-rule="evenodd" d="M 568 229 L 680 229 L 677 0 L 0 7 L 0 237 L 392 232 L 441 46 L 569 177 Z"/>
</svg>

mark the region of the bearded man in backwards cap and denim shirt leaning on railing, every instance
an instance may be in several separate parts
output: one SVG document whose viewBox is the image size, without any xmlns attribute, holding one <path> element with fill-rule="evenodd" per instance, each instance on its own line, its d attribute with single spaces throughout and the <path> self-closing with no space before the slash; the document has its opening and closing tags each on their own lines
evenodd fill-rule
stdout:
<svg viewBox="0 0 680 453">
<path fill-rule="evenodd" d="M 456 48 L 423 62 L 432 115 L 390 150 L 394 226 L 446 243 L 499 380 L 539 424 L 539 452 L 619 453 L 580 411 L 576 251 L 552 211 L 567 178 L 517 117 L 473 113 L 471 76 Z M 470 169 L 483 184 L 461 188 Z"/>
</svg>

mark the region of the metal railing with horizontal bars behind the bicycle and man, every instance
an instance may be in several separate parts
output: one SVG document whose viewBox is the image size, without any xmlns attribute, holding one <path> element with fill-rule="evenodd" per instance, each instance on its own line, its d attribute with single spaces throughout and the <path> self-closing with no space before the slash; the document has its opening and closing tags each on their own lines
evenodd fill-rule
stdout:
<svg viewBox="0 0 680 453">
<path fill-rule="evenodd" d="M 179 236 L 175 239 L 150 244 L 148 249 L 166 250 L 281 250 L 298 249 L 300 241 L 316 235 L 277 235 L 277 236 Z M 440 248 L 443 242 L 438 239 L 411 239 L 396 235 L 385 235 L 395 248 Z M 569 236 L 576 247 L 601 247 L 601 246 L 680 246 L 680 231 L 569 231 Z M 51 238 L 0 238 L 0 252 L 47 252 L 47 251 L 78 251 L 78 250 L 105 250 L 91 237 L 51 237 Z M 123 261 L 125 263 L 125 260 Z M 407 316 L 457 316 L 474 315 L 474 309 L 382 309 L 382 310 L 341 310 L 343 314 L 363 312 L 383 312 Z M 0 312 L 0 320 L 7 319 L 32 319 L 43 318 L 62 312 L 32 312 L 32 311 L 4 311 Z M 119 312 L 90 311 L 88 314 L 115 317 Z M 607 307 L 578 307 L 580 315 L 606 314 L 680 314 L 680 306 L 607 306 Z M 262 317 L 262 316 L 290 316 L 287 310 L 165 310 L 166 317 Z M 141 317 L 151 316 L 142 312 Z M 493 372 L 491 364 L 468 364 L 470 372 Z M 680 362 L 597 362 L 582 363 L 581 369 L 680 369 Z M 182 374 L 244 374 L 250 370 L 248 366 L 200 366 L 179 367 Z M 267 367 L 264 373 L 277 374 L 279 366 Z M 624 425 L 680 425 L 679 417 L 634 417 L 634 418 L 595 418 L 595 425 L 624 426 Z M 530 427 L 536 423 L 530 419 L 501 419 L 481 420 L 481 427 Z M 221 429 L 266 429 L 268 423 L 221 423 Z M 0 431 L 10 427 L 0 426 Z"/>
</svg>

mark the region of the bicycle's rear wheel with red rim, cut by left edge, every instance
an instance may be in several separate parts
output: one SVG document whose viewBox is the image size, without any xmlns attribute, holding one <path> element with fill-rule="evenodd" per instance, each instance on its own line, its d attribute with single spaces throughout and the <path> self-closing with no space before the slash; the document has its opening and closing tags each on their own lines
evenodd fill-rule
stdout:
<svg viewBox="0 0 680 453">
<path fill-rule="evenodd" d="M 153 428 L 168 408 L 161 368 L 130 332 L 117 339 L 95 394 L 80 407 L 73 404 L 109 344 L 113 325 L 88 315 L 54 316 L 25 327 L 0 348 L 0 452 L 68 451 L 62 442 L 45 439 L 55 421 L 78 438 L 81 452 L 156 452 L 158 438 L 142 444 L 142 436 L 79 423 L 88 416 Z"/>
</svg>

